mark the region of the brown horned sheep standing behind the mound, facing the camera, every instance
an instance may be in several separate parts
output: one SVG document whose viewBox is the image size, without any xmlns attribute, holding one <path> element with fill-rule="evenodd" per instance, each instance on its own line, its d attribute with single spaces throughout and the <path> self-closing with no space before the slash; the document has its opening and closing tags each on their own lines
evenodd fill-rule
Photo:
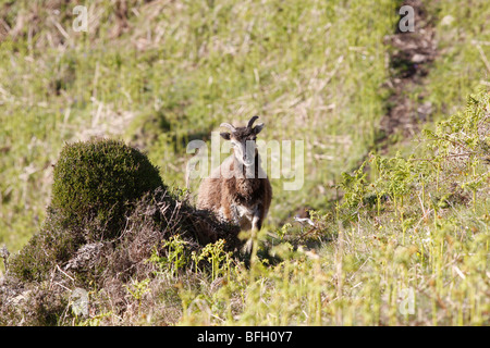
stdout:
<svg viewBox="0 0 490 348">
<path fill-rule="evenodd" d="M 264 123 L 253 127 L 257 119 L 253 116 L 245 127 L 220 125 L 230 129 L 220 136 L 231 141 L 233 153 L 203 179 L 197 198 L 197 209 L 211 211 L 221 221 L 238 225 L 241 231 L 252 231 L 253 237 L 260 231 L 272 199 L 272 187 L 260 166 L 256 144 Z M 250 248 L 252 238 L 245 250 L 249 252 Z"/>
</svg>

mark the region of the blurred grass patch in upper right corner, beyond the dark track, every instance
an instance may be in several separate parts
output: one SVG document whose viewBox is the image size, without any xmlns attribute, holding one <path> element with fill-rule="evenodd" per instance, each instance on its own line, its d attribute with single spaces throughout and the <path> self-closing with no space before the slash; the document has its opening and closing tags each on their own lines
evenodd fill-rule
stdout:
<svg viewBox="0 0 490 348">
<path fill-rule="evenodd" d="M 490 80 L 490 16 L 485 1 L 462 5 L 461 1 L 438 1 L 429 9 L 437 14 L 439 57 L 429 73 L 426 90 L 437 119 L 445 117 L 477 88 Z"/>
</svg>

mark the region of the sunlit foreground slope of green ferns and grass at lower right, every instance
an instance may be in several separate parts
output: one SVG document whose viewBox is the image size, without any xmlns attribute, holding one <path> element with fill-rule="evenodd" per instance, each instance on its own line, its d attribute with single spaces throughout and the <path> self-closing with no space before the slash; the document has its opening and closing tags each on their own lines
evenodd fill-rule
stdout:
<svg viewBox="0 0 490 348">
<path fill-rule="evenodd" d="M 174 284 L 167 260 L 185 260 L 175 249 L 133 320 L 172 322 L 157 302 L 176 304 L 184 325 L 489 325 L 489 102 L 471 96 L 427 132 L 414 153 L 425 158 L 370 156 L 371 178 L 345 175 L 343 203 L 313 212 L 314 227 L 264 232 L 249 269 L 224 261 L 216 244 L 212 272 L 181 272 L 179 299 L 157 298 L 168 293 L 154 285 Z"/>
</svg>

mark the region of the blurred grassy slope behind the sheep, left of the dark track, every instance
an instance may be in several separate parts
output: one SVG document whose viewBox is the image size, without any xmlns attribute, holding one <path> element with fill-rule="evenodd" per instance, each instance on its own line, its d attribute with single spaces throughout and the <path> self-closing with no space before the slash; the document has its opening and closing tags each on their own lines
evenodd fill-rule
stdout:
<svg viewBox="0 0 490 348">
<path fill-rule="evenodd" d="M 372 145 L 385 94 L 382 37 L 395 21 L 391 1 L 130 3 L 138 15 L 130 11 L 131 29 L 115 39 L 108 33 L 119 24 L 117 9 L 103 1 L 95 2 L 101 17 L 88 34 L 71 29 L 69 5 L 58 16 L 27 1 L 10 12 L 51 15 L 70 35 L 39 20 L 30 41 L 25 28 L 1 44 L 1 76 L 9 78 L 1 82 L 0 236 L 10 248 L 37 228 L 35 216 L 42 220 L 50 165 L 65 140 L 100 134 L 132 140 L 167 183 L 182 187 L 189 139 L 259 114 L 266 139 L 306 140 L 310 169 L 295 195 L 273 183 L 272 224 L 304 204 L 323 204 L 327 196 L 309 202 L 308 192 L 322 192 Z"/>
</svg>

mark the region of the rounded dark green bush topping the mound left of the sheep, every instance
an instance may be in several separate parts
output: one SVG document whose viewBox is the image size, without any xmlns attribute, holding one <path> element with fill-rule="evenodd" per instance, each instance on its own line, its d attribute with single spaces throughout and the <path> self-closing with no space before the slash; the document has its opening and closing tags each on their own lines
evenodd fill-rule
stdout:
<svg viewBox="0 0 490 348">
<path fill-rule="evenodd" d="M 163 186 L 158 169 L 138 150 L 117 140 L 66 145 L 54 166 L 51 209 L 66 226 L 87 219 L 117 237 L 125 213 L 144 194 Z"/>
</svg>

